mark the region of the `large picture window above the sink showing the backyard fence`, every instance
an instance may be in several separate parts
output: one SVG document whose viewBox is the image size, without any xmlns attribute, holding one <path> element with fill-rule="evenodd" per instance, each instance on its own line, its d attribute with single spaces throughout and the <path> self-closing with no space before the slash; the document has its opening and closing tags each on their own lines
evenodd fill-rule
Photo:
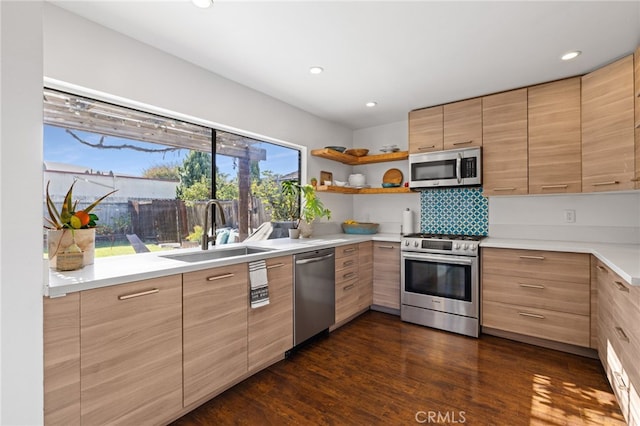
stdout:
<svg viewBox="0 0 640 426">
<path fill-rule="evenodd" d="M 300 150 L 45 89 L 43 167 L 56 205 L 73 182 L 80 207 L 118 190 L 96 209 L 100 257 L 197 247 L 204 232 L 216 244 L 286 236 L 281 182 L 299 179 Z M 209 199 L 226 221 L 205 230 Z"/>
</svg>

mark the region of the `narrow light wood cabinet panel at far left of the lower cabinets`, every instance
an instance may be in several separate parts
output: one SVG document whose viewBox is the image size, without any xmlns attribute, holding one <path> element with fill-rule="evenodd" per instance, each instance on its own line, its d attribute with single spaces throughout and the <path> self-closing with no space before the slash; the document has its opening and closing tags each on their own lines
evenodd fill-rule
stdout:
<svg viewBox="0 0 640 426">
<path fill-rule="evenodd" d="M 44 423 L 80 424 L 80 293 L 43 299 Z"/>
</svg>

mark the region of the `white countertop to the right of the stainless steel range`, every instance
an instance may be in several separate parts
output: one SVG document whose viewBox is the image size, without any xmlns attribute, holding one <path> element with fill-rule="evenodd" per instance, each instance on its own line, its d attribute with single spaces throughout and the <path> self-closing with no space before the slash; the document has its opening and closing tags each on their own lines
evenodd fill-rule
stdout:
<svg viewBox="0 0 640 426">
<path fill-rule="evenodd" d="M 640 286 L 640 245 L 583 241 L 547 241 L 485 238 L 480 247 L 590 253 L 634 286 Z"/>
</svg>

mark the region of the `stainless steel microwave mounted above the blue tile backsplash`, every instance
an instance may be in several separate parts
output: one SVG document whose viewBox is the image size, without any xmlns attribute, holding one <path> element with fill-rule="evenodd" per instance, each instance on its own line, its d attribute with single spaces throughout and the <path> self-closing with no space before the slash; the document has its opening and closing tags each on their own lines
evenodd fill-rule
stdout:
<svg viewBox="0 0 640 426">
<path fill-rule="evenodd" d="M 410 154 L 410 188 L 482 184 L 482 149 L 461 148 Z"/>
</svg>

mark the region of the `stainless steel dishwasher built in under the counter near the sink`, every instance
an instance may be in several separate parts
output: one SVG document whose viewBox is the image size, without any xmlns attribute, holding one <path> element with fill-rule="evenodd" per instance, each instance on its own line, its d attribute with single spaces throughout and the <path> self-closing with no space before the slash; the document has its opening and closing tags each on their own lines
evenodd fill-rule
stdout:
<svg viewBox="0 0 640 426">
<path fill-rule="evenodd" d="M 298 345 L 335 322 L 335 249 L 293 256 L 293 340 Z"/>
</svg>

